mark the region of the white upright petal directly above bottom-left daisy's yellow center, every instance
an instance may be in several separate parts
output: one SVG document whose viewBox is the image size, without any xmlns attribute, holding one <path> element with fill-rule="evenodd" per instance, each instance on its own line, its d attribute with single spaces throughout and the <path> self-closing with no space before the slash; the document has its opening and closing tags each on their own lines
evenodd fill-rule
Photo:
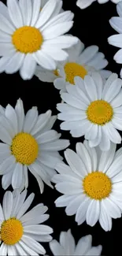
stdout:
<svg viewBox="0 0 122 256">
<path fill-rule="evenodd" d="M 4 195 L 2 207 L 5 220 L 7 220 L 9 219 L 13 209 L 13 194 L 10 191 L 6 191 L 6 194 Z"/>
</svg>

